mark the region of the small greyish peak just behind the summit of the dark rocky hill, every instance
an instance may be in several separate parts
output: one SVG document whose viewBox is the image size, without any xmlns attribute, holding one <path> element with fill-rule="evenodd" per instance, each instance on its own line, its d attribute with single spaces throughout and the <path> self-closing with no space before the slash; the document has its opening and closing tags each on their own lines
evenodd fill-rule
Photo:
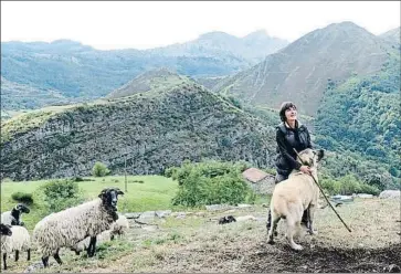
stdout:
<svg viewBox="0 0 401 274">
<path fill-rule="evenodd" d="M 190 80 L 167 68 L 147 71 L 109 93 L 106 98 L 119 98 L 137 93 L 166 91 Z"/>
</svg>

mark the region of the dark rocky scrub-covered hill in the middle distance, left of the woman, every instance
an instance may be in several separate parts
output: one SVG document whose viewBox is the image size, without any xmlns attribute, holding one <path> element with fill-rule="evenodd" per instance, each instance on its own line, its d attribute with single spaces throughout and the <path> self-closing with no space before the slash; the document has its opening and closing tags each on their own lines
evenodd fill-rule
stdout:
<svg viewBox="0 0 401 274">
<path fill-rule="evenodd" d="M 160 173 L 184 159 L 273 165 L 274 129 L 204 87 L 34 110 L 1 125 L 1 178 L 87 176 L 96 161 L 113 173 Z"/>
</svg>

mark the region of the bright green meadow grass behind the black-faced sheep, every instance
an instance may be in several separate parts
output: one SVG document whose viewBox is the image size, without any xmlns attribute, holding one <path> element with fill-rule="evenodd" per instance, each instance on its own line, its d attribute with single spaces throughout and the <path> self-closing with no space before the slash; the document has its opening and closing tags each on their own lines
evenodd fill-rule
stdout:
<svg viewBox="0 0 401 274">
<path fill-rule="evenodd" d="M 176 194 L 178 183 L 170 178 L 161 176 L 128 176 L 127 191 L 125 191 L 124 176 L 112 176 L 102 178 L 86 178 L 94 181 L 78 182 L 80 189 L 87 200 L 98 196 L 102 189 L 107 187 L 118 187 L 125 194 L 119 197 L 119 212 L 143 212 L 148 210 L 171 209 L 171 198 Z M 1 183 L 1 212 L 11 210 L 18 202 L 11 199 L 11 194 L 18 191 L 33 193 L 41 185 L 48 180 L 23 181 Z M 144 181 L 143 183 L 137 181 Z M 22 219 L 29 230 L 46 214 L 42 210 L 43 202 L 34 200 L 30 205 L 31 212 L 23 214 Z"/>
</svg>

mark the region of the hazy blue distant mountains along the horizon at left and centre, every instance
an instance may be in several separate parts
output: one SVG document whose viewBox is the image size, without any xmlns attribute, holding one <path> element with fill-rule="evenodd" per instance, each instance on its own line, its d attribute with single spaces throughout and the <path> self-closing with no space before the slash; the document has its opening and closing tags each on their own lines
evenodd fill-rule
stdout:
<svg viewBox="0 0 401 274">
<path fill-rule="evenodd" d="M 252 44 L 246 45 L 249 42 Z M 146 71 L 167 67 L 189 76 L 224 76 L 250 67 L 255 60 L 261 61 L 285 44 L 263 34 L 239 39 L 222 33 L 207 33 L 192 42 L 144 51 L 98 51 L 70 40 L 2 42 L 1 76 L 20 85 L 19 89 L 27 86 L 24 93 L 52 91 L 71 102 L 91 102 Z M 13 94 L 9 93 L 12 106 L 8 108 L 52 104 L 52 101 L 43 101 L 42 95 L 35 97 L 34 93 L 31 104 L 19 104 L 18 98 L 12 98 Z"/>
</svg>

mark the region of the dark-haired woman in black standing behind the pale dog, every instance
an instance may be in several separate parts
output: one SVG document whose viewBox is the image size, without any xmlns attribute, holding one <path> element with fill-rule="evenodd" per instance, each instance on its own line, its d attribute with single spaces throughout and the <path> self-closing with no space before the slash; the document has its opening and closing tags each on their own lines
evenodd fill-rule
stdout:
<svg viewBox="0 0 401 274">
<path fill-rule="evenodd" d="M 310 175 L 308 166 L 296 161 L 296 151 L 312 148 L 309 131 L 306 126 L 300 125 L 297 119 L 297 108 L 292 102 L 284 102 L 279 108 L 282 123 L 276 127 L 277 157 L 275 183 L 288 179 L 289 173 L 296 169 Z M 267 230 L 271 226 L 271 212 L 268 210 Z M 304 212 L 303 223 L 307 224 L 307 213 Z"/>
</svg>

